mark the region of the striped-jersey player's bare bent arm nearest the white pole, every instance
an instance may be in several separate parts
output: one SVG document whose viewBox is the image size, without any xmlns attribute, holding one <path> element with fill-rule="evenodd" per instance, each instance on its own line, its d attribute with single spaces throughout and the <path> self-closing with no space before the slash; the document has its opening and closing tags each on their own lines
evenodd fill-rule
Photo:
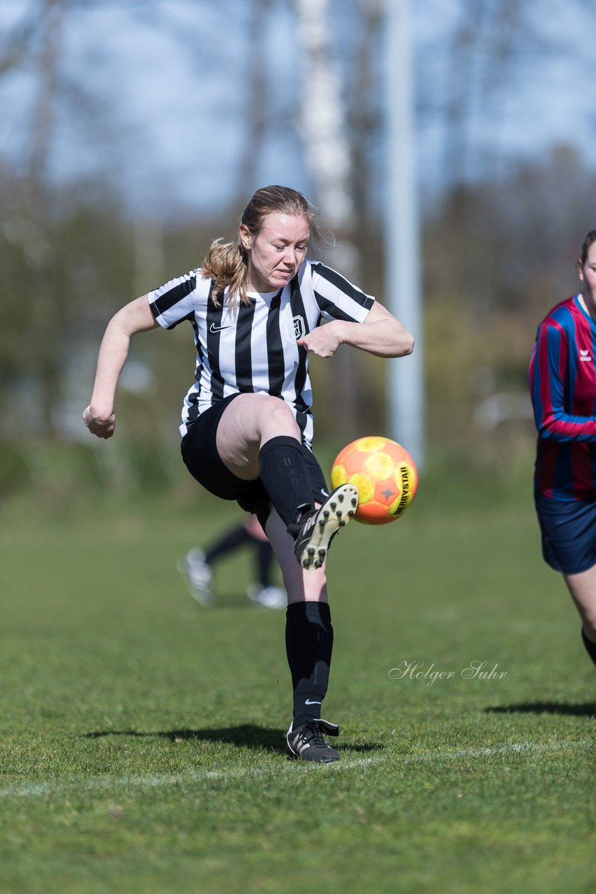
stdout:
<svg viewBox="0 0 596 894">
<path fill-rule="evenodd" d="M 377 357 L 405 357 L 414 350 L 414 336 L 375 301 L 364 323 L 332 320 L 299 339 L 298 344 L 319 357 L 332 357 L 340 344 L 349 344 Z"/>
</svg>

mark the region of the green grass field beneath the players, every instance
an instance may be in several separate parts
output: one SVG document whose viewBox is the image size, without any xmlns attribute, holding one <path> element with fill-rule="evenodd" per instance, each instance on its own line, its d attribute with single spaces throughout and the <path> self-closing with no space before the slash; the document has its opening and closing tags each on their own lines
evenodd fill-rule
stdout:
<svg viewBox="0 0 596 894">
<path fill-rule="evenodd" d="M 244 597 L 248 556 L 212 611 L 175 570 L 231 511 L 0 510 L 3 894 L 594 890 L 575 612 L 529 488 L 451 496 L 423 481 L 333 547 L 330 766 L 283 754 L 284 615 Z"/>
</svg>

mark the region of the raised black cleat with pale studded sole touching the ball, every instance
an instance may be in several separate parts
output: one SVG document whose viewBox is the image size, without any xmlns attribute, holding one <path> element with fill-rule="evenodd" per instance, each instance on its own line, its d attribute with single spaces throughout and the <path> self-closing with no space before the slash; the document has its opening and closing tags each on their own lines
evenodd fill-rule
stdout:
<svg viewBox="0 0 596 894">
<path fill-rule="evenodd" d="M 320 509 L 312 506 L 298 508 L 295 519 L 288 525 L 288 532 L 296 539 L 294 552 L 302 568 L 321 568 L 332 538 L 354 517 L 357 508 L 355 485 L 336 487 Z"/>
</svg>

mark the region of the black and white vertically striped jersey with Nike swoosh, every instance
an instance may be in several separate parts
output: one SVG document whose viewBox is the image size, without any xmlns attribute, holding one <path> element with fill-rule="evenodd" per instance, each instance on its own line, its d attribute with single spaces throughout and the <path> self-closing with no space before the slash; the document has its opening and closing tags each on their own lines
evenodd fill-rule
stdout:
<svg viewBox="0 0 596 894">
<path fill-rule="evenodd" d="M 273 394 L 290 406 L 303 442 L 311 446 L 312 391 L 308 352 L 296 342 L 322 320 L 362 323 L 374 298 L 317 261 L 305 260 L 281 290 L 249 292 L 234 312 L 227 290 L 215 307 L 213 280 L 200 270 L 148 293 L 156 322 L 192 325 L 197 346 L 195 381 L 184 399 L 180 434 L 215 401 L 236 392 Z"/>
</svg>

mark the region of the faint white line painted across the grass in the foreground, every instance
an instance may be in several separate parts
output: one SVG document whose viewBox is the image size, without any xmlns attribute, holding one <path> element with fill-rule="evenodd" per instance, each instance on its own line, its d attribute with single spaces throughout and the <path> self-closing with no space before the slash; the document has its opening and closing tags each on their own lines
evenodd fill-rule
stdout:
<svg viewBox="0 0 596 894">
<path fill-rule="evenodd" d="M 510 742 L 508 745 L 493 746 L 489 748 L 436 748 L 421 752 L 418 755 L 405 757 L 402 761 L 390 761 L 386 757 L 355 757 L 347 758 L 339 763 L 324 765 L 323 772 L 342 772 L 345 770 L 367 770 L 379 764 L 392 763 L 440 763 L 441 761 L 453 761 L 461 757 L 483 758 L 494 755 L 534 755 L 544 752 L 566 751 L 567 749 L 583 749 L 594 746 L 594 739 L 564 740 L 541 744 L 537 742 Z M 13 785 L 0 789 L 0 797 L 50 797 L 52 795 L 67 794 L 76 791 L 107 791 L 113 789 L 162 789 L 185 785 L 189 782 L 209 780 L 238 780 L 259 778 L 264 776 L 279 776 L 281 773 L 321 771 L 321 764 L 307 764 L 288 762 L 270 767 L 246 767 L 238 770 L 199 770 L 177 774 L 163 774 L 157 776 L 82 776 L 70 780 L 51 780 L 46 782 L 16 782 Z"/>
</svg>

